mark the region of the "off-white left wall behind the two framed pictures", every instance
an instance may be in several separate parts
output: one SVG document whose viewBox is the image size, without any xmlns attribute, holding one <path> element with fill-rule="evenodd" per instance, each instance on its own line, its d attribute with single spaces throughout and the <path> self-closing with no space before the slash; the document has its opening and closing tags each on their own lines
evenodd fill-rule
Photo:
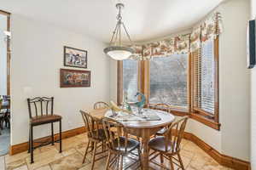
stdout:
<svg viewBox="0 0 256 170">
<path fill-rule="evenodd" d="M 63 131 L 83 126 L 79 110 L 90 108 L 96 101 L 109 100 L 109 59 L 102 52 L 104 44 L 18 14 L 12 14 L 11 21 L 11 144 L 28 140 L 29 97 L 54 96 L 55 113 L 63 116 Z M 60 88 L 60 68 L 65 68 L 63 46 L 88 50 L 90 88 Z M 49 126 L 36 127 L 34 135 L 49 135 Z"/>
</svg>

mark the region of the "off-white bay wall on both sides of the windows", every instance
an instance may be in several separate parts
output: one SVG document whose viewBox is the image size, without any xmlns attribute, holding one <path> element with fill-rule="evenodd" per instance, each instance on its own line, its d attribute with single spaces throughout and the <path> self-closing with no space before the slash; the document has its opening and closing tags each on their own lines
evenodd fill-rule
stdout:
<svg viewBox="0 0 256 170">
<path fill-rule="evenodd" d="M 221 12 L 219 37 L 219 116 L 221 130 L 190 120 L 186 130 L 224 155 L 250 160 L 250 75 L 246 64 L 249 0 L 229 0 Z M 111 62 L 111 99 L 116 99 L 116 62 Z M 254 86 L 255 87 L 255 86 Z M 254 143 L 255 144 L 255 143 Z"/>
</svg>

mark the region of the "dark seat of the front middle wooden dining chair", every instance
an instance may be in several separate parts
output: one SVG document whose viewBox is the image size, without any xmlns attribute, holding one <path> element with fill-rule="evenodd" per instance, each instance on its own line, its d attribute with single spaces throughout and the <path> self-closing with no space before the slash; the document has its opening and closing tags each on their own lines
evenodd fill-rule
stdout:
<svg viewBox="0 0 256 170">
<path fill-rule="evenodd" d="M 114 150 L 125 151 L 125 137 L 119 137 L 119 145 L 118 138 L 114 140 Z M 140 143 L 136 139 L 127 139 L 127 147 L 126 151 L 131 151 L 139 147 Z"/>
</svg>

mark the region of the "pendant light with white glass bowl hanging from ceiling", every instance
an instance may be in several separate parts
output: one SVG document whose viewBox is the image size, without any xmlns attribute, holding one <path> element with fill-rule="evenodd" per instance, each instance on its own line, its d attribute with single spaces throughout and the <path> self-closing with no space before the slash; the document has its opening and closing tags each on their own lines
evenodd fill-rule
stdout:
<svg viewBox="0 0 256 170">
<path fill-rule="evenodd" d="M 117 3 L 116 8 L 119 10 L 119 14 L 117 15 L 117 24 L 113 30 L 113 36 L 111 37 L 108 48 L 104 48 L 104 53 L 108 54 L 113 59 L 123 60 L 128 59 L 131 54 L 134 53 L 134 50 L 128 46 L 125 46 L 121 42 L 121 29 L 125 30 L 125 34 L 131 42 L 131 37 L 126 30 L 125 24 L 122 21 L 121 9 L 124 8 L 125 5 L 123 3 Z M 131 42 L 132 45 L 132 42 Z"/>
</svg>

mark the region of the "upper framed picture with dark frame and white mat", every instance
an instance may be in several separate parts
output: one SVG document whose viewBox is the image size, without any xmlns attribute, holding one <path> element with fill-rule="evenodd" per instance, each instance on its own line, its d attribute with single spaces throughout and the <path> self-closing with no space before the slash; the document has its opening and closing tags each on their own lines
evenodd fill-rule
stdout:
<svg viewBox="0 0 256 170">
<path fill-rule="evenodd" d="M 64 66 L 87 69 L 87 51 L 64 46 Z"/>
</svg>

